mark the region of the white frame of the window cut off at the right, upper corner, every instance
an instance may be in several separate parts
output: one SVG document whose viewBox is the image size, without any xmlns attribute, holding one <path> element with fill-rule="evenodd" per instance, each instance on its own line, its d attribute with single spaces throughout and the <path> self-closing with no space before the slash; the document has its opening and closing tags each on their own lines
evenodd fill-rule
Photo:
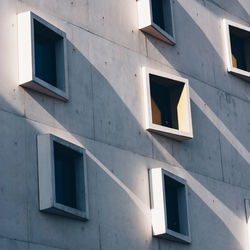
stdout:
<svg viewBox="0 0 250 250">
<path fill-rule="evenodd" d="M 229 26 L 235 27 L 237 29 L 241 29 L 249 32 L 250 35 L 250 27 L 245 25 L 229 21 L 227 19 L 223 19 L 224 26 L 224 41 L 225 41 L 225 53 L 226 53 L 226 66 L 227 71 L 235 76 L 240 77 L 243 80 L 250 81 L 250 72 L 246 70 L 242 70 L 233 66 L 232 62 L 232 49 L 231 49 L 231 41 L 230 41 L 230 30 Z"/>
</svg>

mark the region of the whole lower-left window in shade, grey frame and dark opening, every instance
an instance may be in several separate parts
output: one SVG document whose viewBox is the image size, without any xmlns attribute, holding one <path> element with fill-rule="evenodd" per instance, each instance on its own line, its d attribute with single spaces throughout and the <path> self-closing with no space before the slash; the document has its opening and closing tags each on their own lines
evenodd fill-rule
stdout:
<svg viewBox="0 0 250 250">
<path fill-rule="evenodd" d="M 85 150 L 54 135 L 38 135 L 40 210 L 88 219 Z"/>
</svg>

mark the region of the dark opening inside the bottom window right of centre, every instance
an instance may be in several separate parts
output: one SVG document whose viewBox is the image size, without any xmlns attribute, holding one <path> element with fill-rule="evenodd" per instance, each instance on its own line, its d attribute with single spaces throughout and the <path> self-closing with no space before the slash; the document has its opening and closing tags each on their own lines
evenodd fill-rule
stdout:
<svg viewBox="0 0 250 250">
<path fill-rule="evenodd" d="M 166 175 L 164 175 L 164 181 L 168 228 L 172 231 L 182 233 L 179 214 L 179 189 L 184 189 L 185 186 Z"/>
</svg>

